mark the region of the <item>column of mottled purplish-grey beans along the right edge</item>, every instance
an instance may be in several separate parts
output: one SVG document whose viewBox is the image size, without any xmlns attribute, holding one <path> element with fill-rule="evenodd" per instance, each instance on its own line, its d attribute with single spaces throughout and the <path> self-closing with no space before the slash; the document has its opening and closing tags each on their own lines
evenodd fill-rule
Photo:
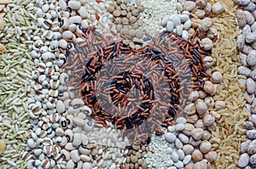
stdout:
<svg viewBox="0 0 256 169">
<path fill-rule="evenodd" d="M 247 129 L 246 142 L 241 143 L 241 157 L 238 166 L 246 167 L 256 164 L 256 8 L 255 1 L 235 1 L 243 9 L 238 9 L 236 19 L 241 28 L 241 34 L 237 37 L 237 49 L 241 51 L 241 66 L 238 73 L 242 76 L 239 80 L 246 87 L 245 97 L 247 99 L 248 121 L 243 123 Z"/>
</svg>

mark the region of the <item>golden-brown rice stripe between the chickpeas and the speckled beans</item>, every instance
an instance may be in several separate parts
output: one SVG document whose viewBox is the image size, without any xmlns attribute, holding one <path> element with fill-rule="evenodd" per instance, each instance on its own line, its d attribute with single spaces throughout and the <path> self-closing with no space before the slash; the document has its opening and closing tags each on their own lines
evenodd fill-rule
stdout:
<svg viewBox="0 0 256 169">
<path fill-rule="evenodd" d="M 217 3 L 211 0 L 210 3 Z M 238 168 L 239 151 L 241 142 L 246 140 L 246 130 L 241 127 L 247 120 L 247 110 L 244 108 L 246 99 L 243 95 L 245 87 L 238 83 L 237 67 L 240 65 L 239 54 L 236 50 L 236 37 L 239 28 L 236 21 L 236 8 L 232 0 L 220 1 L 225 12 L 218 16 L 213 15 L 213 27 L 218 30 L 218 39 L 214 41 L 212 55 L 216 65 L 212 70 L 218 70 L 224 75 L 224 82 L 218 85 L 218 92 L 214 100 L 224 100 L 226 108 L 218 111 L 222 117 L 218 120 L 213 137 L 220 138 L 220 144 L 213 144 L 212 150 L 217 151 L 218 159 L 214 162 L 215 168 Z"/>
</svg>

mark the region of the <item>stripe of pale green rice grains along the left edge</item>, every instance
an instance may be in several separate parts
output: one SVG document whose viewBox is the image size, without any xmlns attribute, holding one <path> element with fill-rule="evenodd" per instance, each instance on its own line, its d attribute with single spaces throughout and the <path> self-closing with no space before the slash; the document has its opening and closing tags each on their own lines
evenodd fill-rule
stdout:
<svg viewBox="0 0 256 169">
<path fill-rule="evenodd" d="M 9 4 L 3 8 L 5 3 Z M 27 94 L 31 89 L 29 81 L 32 79 L 33 65 L 32 57 L 27 51 L 34 42 L 30 34 L 37 29 L 33 3 L 35 2 L 0 2 L 0 8 L 5 13 L 0 14 L 0 50 L 4 50 L 3 45 L 6 48 L 0 61 L 0 137 L 3 139 L 0 162 L 4 168 L 26 168 L 21 155 L 26 149 L 26 132 L 29 127 Z"/>
</svg>

